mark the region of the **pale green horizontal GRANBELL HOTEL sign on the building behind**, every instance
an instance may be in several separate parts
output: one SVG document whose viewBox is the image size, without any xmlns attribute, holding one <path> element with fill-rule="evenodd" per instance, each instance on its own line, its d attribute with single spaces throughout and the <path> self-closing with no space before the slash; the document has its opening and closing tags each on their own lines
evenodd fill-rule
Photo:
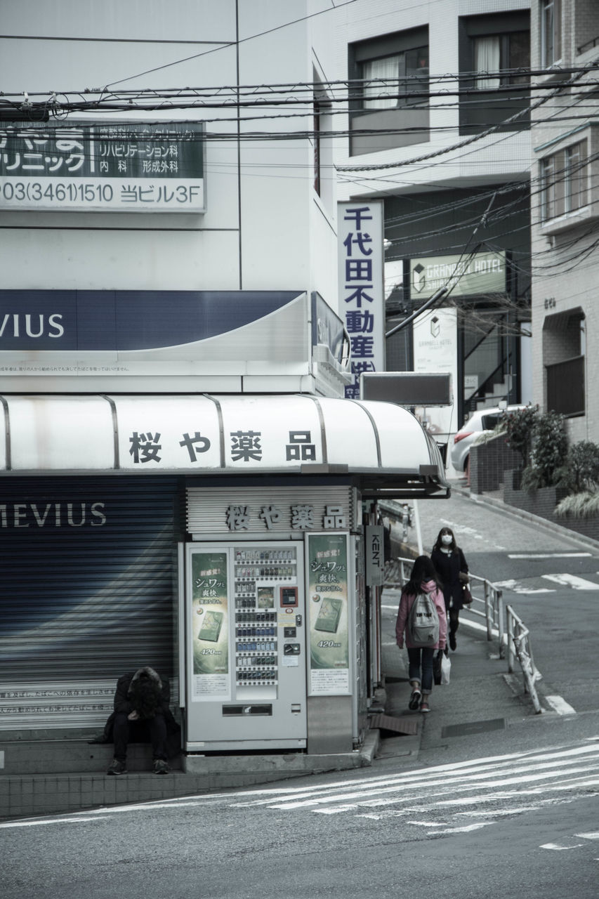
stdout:
<svg viewBox="0 0 599 899">
<path fill-rule="evenodd" d="M 429 298 L 447 287 L 453 297 L 505 293 L 505 253 L 425 256 L 410 260 L 410 296 Z"/>
</svg>

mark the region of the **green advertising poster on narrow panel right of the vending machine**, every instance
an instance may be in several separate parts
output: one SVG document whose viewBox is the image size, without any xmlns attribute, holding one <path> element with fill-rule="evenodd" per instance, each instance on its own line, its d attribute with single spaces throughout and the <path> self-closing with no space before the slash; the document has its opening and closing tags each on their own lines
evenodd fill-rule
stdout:
<svg viewBox="0 0 599 899">
<path fill-rule="evenodd" d="M 309 693 L 350 692 L 347 535 L 308 534 Z"/>
</svg>

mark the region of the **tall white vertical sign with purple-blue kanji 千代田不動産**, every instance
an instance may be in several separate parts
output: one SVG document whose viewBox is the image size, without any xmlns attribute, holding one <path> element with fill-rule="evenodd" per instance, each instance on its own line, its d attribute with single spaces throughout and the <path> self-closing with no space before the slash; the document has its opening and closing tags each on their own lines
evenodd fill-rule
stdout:
<svg viewBox="0 0 599 899">
<path fill-rule="evenodd" d="M 382 200 L 339 203 L 337 219 L 339 307 L 352 349 L 345 396 L 359 399 L 362 372 L 385 368 Z"/>
</svg>

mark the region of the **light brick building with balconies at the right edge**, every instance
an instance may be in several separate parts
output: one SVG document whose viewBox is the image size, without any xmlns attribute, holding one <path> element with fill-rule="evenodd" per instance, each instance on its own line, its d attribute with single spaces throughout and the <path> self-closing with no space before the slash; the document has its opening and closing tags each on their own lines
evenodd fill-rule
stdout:
<svg viewBox="0 0 599 899">
<path fill-rule="evenodd" d="M 535 0 L 531 13 L 534 83 L 547 98 L 532 116 L 533 396 L 567 416 L 571 441 L 597 442 L 599 9 Z"/>
</svg>

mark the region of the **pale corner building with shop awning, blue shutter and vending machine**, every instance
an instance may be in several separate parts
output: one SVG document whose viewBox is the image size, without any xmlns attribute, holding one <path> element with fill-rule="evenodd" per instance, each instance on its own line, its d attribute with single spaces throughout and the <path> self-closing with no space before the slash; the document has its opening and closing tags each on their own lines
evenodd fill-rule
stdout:
<svg viewBox="0 0 599 899">
<path fill-rule="evenodd" d="M 4 726 L 96 728 L 151 664 L 189 752 L 351 751 L 372 503 L 447 490 L 412 416 L 343 398 L 335 7 L 3 16 Z"/>
</svg>

